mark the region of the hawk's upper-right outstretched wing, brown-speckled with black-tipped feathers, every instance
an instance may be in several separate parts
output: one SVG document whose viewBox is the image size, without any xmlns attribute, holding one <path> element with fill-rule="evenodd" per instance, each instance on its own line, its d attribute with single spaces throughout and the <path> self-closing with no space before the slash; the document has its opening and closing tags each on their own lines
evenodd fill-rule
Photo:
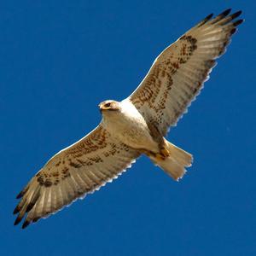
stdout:
<svg viewBox="0 0 256 256">
<path fill-rule="evenodd" d="M 214 19 L 208 15 L 167 47 L 129 97 L 163 136 L 199 94 L 215 66 L 215 59 L 224 53 L 236 26 L 243 21 L 235 20 L 241 11 L 229 14 L 230 9 Z"/>
</svg>

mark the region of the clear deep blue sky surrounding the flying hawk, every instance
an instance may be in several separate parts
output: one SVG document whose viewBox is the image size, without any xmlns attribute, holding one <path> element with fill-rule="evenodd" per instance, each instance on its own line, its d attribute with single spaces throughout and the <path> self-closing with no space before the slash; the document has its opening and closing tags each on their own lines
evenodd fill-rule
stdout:
<svg viewBox="0 0 256 256">
<path fill-rule="evenodd" d="M 254 1 L 0 3 L 1 255 L 256 255 Z M 194 154 L 180 183 L 145 157 L 26 230 L 15 195 L 128 96 L 156 55 L 210 13 L 243 10 L 227 53 L 169 139 Z"/>
</svg>

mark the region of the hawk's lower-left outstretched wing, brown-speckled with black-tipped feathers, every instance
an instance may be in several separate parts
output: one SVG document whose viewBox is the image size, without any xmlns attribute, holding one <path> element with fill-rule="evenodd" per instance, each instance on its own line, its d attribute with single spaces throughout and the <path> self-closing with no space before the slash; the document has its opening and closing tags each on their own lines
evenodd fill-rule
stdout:
<svg viewBox="0 0 256 256">
<path fill-rule="evenodd" d="M 32 177 L 17 198 L 19 213 L 15 224 L 26 214 L 22 228 L 57 212 L 79 197 L 94 192 L 118 177 L 139 153 L 111 137 L 102 125 L 69 148 L 61 150 Z"/>
</svg>

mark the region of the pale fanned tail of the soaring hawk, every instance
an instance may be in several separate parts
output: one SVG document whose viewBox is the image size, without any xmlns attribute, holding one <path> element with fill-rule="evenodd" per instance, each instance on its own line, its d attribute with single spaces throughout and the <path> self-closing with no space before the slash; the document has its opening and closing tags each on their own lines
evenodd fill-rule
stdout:
<svg viewBox="0 0 256 256">
<path fill-rule="evenodd" d="M 181 148 L 177 148 L 165 139 L 165 148 L 163 149 L 168 156 L 163 157 L 161 154 L 150 157 L 157 166 L 160 166 L 173 179 L 182 178 L 186 173 L 185 167 L 192 164 L 193 156 Z"/>
</svg>

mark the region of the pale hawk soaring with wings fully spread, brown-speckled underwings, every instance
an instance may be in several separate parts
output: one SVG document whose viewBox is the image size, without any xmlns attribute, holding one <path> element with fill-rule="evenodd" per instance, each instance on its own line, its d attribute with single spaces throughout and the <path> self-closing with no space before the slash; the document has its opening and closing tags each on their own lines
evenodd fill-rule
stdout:
<svg viewBox="0 0 256 256">
<path fill-rule="evenodd" d="M 100 189 L 145 154 L 173 179 L 191 166 L 192 155 L 168 142 L 170 126 L 186 112 L 224 54 L 241 11 L 212 14 L 156 58 L 137 89 L 122 102 L 99 104 L 102 121 L 88 135 L 55 154 L 17 198 L 15 224 L 22 228 Z"/>
</svg>

